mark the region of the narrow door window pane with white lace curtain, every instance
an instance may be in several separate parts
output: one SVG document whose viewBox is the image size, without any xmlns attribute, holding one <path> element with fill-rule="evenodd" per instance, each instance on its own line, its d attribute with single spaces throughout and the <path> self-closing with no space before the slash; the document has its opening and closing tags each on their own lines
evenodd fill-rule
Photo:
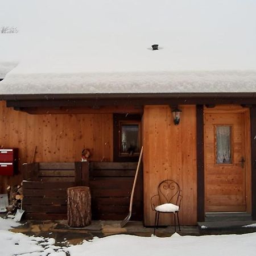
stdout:
<svg viewBox="0 0 256 256">
<path fill-rule="evenodd" d="M 231 126 L 216 126 L 216 163 L 232 163 Z"/>
</svg>

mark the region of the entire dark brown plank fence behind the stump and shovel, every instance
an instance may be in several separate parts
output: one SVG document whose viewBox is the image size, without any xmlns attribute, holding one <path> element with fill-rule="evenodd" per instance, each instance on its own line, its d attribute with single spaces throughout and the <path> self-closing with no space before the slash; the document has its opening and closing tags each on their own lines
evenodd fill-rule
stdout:
<svg viewBox="0 0 256 256">
<path fill-rule="evenodd" d="M 129 212 L 136 163 L 33 163 L 23 166 L 23 208 L 34 220 L 67 218 L 67 188 L 85 185 L 92 193 L 93 220 L 122 220 Z M 134 195 L 133 220 L 143 218 L 143 174 Z"/>
</svg>

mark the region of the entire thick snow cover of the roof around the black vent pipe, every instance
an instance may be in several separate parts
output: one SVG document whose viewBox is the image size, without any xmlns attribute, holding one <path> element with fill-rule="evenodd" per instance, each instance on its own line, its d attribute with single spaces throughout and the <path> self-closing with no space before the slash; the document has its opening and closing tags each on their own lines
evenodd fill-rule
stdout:
<svg viewBox="0 0 256 256">
<path fill-rule="evenodd" d="M 255 1 L 17 5 L 23 54 L 0 94 L 256 92 Z"/>
</svg>

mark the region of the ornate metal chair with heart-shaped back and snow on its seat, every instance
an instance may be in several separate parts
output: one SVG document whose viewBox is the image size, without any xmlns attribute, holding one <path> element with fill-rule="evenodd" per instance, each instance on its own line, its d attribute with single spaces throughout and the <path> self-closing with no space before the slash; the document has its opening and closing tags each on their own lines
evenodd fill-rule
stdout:
<svg viewBox="0 0 256 256">
<path fill-rule="evenodd" d="M 155 210 L 155 229 L 158 228 L 160 213 L 174 214 L 176 232 L 176 214 L 180 230 L 179 210 L 182 196 L 179 184 L 174 180 L 164 180 L 158 185 L 158 194 L 151 197 L 151 207 Z"/>
</svg>

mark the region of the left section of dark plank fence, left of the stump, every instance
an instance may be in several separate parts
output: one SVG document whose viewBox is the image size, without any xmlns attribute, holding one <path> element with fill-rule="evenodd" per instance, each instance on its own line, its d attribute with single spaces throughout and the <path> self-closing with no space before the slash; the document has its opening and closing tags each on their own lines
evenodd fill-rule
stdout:
<svg viewBox="0 0 256 256">
<path fill-rule="evenodd" d="M 23 209 L 28 220 L 67 218 L 67 188 L 74 187 L 75 163 L 35 163 L 24 166 Z"/>
</svg>

